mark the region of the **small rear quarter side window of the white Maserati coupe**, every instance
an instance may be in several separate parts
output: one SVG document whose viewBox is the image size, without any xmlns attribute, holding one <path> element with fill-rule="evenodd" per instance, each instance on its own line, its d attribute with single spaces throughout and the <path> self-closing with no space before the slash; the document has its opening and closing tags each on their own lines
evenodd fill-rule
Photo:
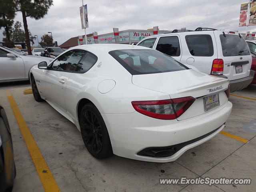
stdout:
<svg viewBox="0 0 256 192">
<path fill-rule="evenodd" d="M 78 63 L 74 72 L 86 72 L 96 63 L 96 61 L 97 57 L 87 52 Z"/>
</svg>

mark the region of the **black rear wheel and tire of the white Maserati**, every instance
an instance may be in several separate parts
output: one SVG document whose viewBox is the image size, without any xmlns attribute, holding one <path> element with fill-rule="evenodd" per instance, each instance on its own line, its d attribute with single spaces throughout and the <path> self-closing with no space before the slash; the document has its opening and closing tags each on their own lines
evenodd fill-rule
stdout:
<svg viewBox="0 0 256 192">
<path fill-rule="evenodd" d="M 92 156 L 104 159 L 113 154 L 106 124 L 93 104 L 84 105 L 79 124 L 84 144 Z"/>
</svg>

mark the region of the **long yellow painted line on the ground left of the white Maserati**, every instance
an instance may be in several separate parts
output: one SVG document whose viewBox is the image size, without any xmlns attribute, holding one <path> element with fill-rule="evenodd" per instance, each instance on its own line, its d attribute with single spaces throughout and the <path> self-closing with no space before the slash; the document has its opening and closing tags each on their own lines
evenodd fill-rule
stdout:
<svg viewBox="0 0 256 192">
<path fill-rule="evenodd" d="M 6 94 L 45 192 L 60 192 L 60 188 L 54 180 L 10 90 L 6 90 Z"/>
</svg>

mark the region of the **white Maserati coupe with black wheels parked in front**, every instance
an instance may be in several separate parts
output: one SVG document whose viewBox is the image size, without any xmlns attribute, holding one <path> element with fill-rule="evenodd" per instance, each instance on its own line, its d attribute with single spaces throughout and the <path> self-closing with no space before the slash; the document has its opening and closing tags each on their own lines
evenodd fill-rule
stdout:
<svg viewBox="0 0 256 192">
<path fill-rule="evenodd" d="M 218 134 L 232 109 L 227 79 L 142 46 L 76 46 L 30 80 L 35 100 L 73 122 L 99 159 L 174 161 Z"/>
</svg>

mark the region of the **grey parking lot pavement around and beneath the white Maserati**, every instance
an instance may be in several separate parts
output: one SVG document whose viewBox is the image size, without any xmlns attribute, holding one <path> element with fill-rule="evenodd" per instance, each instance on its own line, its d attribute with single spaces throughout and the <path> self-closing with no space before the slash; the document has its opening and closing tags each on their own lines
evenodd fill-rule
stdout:
<svg viewBox="0 0 256 192">
<path fill-rule="evenodd" d="M 29 146 L 20 131 L 6 90 L 13 96 L 36 142 L 53 180 L 62 192 L 172 191 L 172 192 L 255 192 L 256 189 L 256 85 L 232 93 L 232 113 L 225 134 L 186 151 L 175 162 L 151 163 L 112 156 L 93 158 L 77 128 L 47 102 L 36 102 L 23 94 L 28 83 L 5 84 L 0 88 L 0 105 L 7 113 L 14 144 L 17 175 L 14 192 L 43 192 L 48 182 L 38 174 Z M 246 97 L 241 98 L 238 96 Z M 250 99 L 248 99 L 250 98 Z M 255 100 L 254 100 L 255 99 Z M 254 124 L 255 123 L 255 124 Z M 242 138 L 248 142 L 239 140 Z M 39 157 L 38 157 L 39 159 Z M 160 178 L 251 178 L 250 185 L 160 185 Z"/>
</svg>

